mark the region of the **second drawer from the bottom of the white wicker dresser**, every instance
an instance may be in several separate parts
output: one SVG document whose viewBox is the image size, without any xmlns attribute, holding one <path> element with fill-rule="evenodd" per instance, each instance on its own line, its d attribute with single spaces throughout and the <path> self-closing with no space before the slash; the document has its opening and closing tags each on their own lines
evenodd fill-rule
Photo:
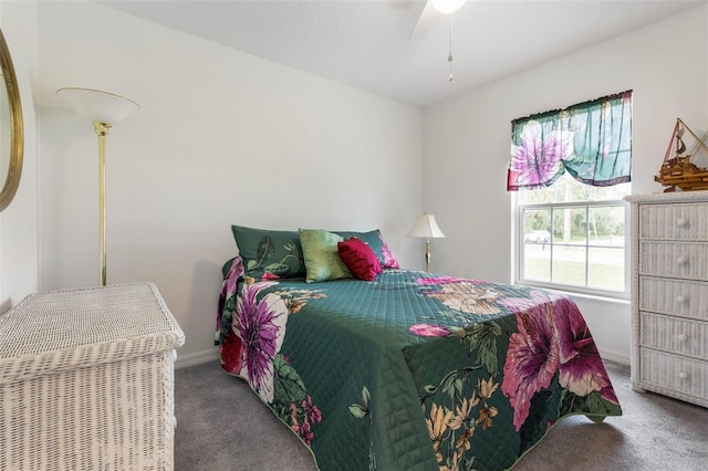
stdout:
<svg viewBox="0 0 708 471">
<path fill-rule="evenodd" d="M 639 313 L 642 346 L 708 360 L 708 322 Z"/>
</svg>

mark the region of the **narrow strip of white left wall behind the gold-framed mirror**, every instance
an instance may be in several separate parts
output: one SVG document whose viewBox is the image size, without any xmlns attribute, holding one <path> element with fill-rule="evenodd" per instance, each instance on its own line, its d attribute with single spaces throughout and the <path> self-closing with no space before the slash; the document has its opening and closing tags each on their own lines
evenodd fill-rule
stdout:
<svg viewBox="0 0 708 471">
<path fill-rule="evenodd" d="M 31 71 L 37 70 L 35 6 L 0 1 L 0 25 L 10 49 L 20 88 L 24 128 L 24 158 L 20 186 L 10 206 L 0 213 L 2 314 L 24 296 L 35 292 L 39 280 L 37 117 L 30 76 Z M 7 146 L 7 143 L 2 144 Z M 6 172 L 2 174 L 3 178 Z"/>
</svg>

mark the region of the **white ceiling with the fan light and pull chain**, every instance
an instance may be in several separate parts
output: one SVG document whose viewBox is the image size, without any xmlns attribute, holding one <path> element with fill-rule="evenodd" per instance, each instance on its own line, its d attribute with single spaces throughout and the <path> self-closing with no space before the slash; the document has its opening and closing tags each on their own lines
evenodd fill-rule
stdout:
<svg viewBox="0 0 708 471">
<path fill-rule="evenodd" d="M 425 0 L 97 2 L 421 107 L 706 3 L 468 0 L 410 39 Z"/>
</svg>

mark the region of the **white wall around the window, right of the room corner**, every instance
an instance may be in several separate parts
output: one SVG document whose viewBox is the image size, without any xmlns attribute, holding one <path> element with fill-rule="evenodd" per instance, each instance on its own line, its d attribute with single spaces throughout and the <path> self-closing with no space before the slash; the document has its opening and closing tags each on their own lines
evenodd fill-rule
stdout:
<svg viewBox="0 0 708 471">
<path fill-rule="evenodd" d="M 653 177 L 676 118 L 708 128 L 707 30 L 704 6 L 426 109 L 424 205 L 448 236 L 434 241 L 435 270 L 512 280 L 513 118 L 631 88 L 633 192 L 662 191 Z M 628 303 L 576 300 L 601 353 L 628 363 Z"/>
</svg>

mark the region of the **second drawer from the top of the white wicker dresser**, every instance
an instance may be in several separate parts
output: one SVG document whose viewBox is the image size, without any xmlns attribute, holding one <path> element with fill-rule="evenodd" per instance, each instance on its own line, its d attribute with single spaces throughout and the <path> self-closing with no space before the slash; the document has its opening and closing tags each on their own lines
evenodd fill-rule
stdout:
<svg viewBox="0 0 708 471">
<path fill-rule="evenodd" d="M 708 280 L 708 244 L 642 240 L 639 274 Z"/>
</svg>

